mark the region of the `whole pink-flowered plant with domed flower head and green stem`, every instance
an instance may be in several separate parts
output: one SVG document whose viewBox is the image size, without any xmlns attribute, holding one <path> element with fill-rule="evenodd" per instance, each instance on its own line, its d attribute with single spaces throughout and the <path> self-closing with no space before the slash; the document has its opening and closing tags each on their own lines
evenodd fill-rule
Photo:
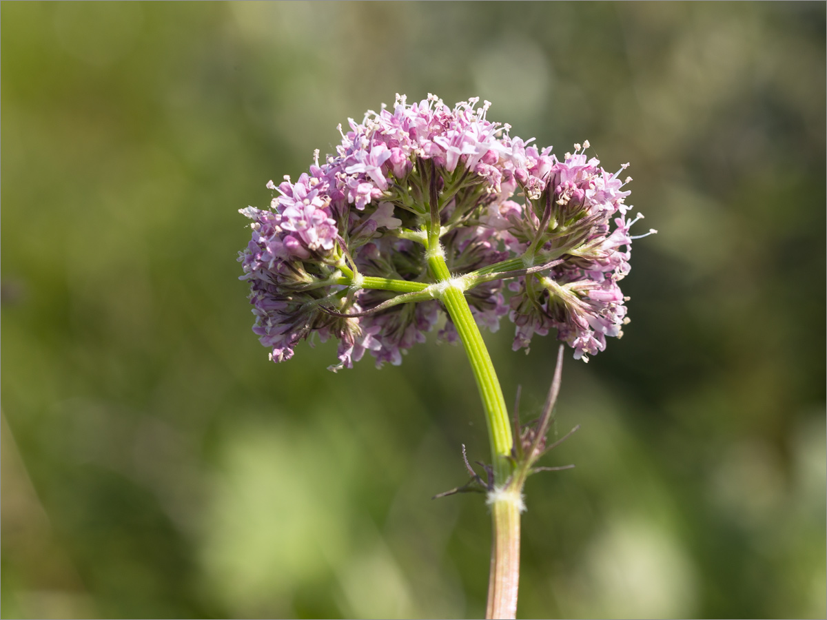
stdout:
<svg viewBox="0 0 827 620">
<path fill-rule="evenodd" d="M 586 157 L 588 142 L 560 160 L 551 147 L 509 136 L 508 125 L 487 120 L 490 103 L 478 103 L 450 108 L 428 95 L 409 105 L 397 95 L 393 111 L 350 119 L 335 155 L 320 163 L 316 151 L 295 183 L 270 181 L 278 193 L 270 208 L 241 209 L 252 237 L 239 260 L 253 331 L 275 362 L 306 338 L 335 338 L 334 372 L 366 351 L 377 366 L 399 365 L 445 317 L 438 337 L 465 348 L 492 461 L 484 481 L 466 460 L 471 482 L 447 494 L 487 495 L 487 617 L 514 618 L 523 484 L 534 471 L 560 469 L 535 463 L 556 445 L 546 435 L 562 357 L 542 416 L 523 427 L 515 410 L 512 432 L 479 326 L 496 331 L 508 316 L 514 351 L 528 352 L 533 335 L 551 329 L 576 359 L 603 351 L 629 321 L 618 282 L 637 238 L 629 229 L 643 216 L 626 217 L 627 165 L 609 174 Z"/>
</svg>

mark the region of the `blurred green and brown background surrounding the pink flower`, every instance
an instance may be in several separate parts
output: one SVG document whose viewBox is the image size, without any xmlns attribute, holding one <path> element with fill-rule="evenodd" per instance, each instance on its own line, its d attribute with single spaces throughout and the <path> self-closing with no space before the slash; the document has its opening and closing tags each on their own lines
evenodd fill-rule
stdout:
<svg viewBox="0 0 827 620">
<path fill-rule="evenodd" d="M 2 2 L 2 616 L 479 617 L 461 348 L 267 361 L 240 207 L 437 93 L 630 161 L 632 322 L 566 355 L 519 616 L 825 618 L 825 3 Z M 486 334 L 538 413 L 556 343 Z"/>
</svg>

